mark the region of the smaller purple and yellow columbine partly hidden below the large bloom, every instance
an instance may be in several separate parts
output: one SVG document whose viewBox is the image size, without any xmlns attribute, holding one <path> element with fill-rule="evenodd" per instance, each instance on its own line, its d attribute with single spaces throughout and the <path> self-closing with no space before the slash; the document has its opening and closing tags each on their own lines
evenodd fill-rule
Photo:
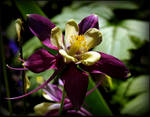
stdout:
<svg viewBox="0 0 150 117">
<path fill-rule="evenodd" d="M 62 82 L 61 80 L 59 80 Z M 40 82 L 41 83 L 41 82 Z M 59 83 L 60 84 L 60 83 Z M 62 84 L 63 86 L 63 84 Z M 62 100 L 62 89 L 58 88 L 57 85 L 48 84 L 43 88 L 43 97 L 51 102 L 42 102 L 34 106 L 34 111 L 37 115 L 59 115 L 60 103 Z M 65 97 L 63 115 L 81 115 L 81 116 L 91 116 L 92 114 L 88 112 L 83 107 L 80 110 L 74 110 L 70 100 Z"/>
</svg>

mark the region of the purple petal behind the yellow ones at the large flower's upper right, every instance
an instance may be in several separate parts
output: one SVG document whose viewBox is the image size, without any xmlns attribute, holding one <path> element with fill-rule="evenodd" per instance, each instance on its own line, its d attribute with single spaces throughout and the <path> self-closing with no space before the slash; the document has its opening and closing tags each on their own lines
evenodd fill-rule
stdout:
<svg viewBox="0 0 150 117">
<path fill-rule="evenodd" d="M 97 15 L 90 15 L 88 17 L 85 17 L 80 23 L 79 23 L 79 34 L 84 34 L 89 28 L 97 28 L 99 29 L 98 24 L 98 16 Z"/>
</svg>

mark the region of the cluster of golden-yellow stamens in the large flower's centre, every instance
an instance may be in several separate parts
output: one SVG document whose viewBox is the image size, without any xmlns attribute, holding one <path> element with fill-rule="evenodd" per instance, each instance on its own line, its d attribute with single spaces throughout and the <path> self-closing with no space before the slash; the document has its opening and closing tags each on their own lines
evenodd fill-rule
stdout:
<svg viewBox="0 0 150 117">
<path fill-rule="evenodd" d="M 70 49 L 68 54 L 74 56 L 75 54 L 81 54 L 87 51 L 87 42 L 84 35 L 71 35 L 70 38 Z"/>
</svg>

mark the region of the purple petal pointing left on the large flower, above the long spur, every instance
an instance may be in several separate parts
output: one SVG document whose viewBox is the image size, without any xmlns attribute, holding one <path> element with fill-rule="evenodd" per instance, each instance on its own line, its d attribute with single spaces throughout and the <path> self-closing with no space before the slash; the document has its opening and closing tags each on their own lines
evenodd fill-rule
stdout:
<svg viewBox="0 0 150 117">
<path fill-rule="evenodd" d="M 35 73 L 43 72 L 55 67 L 55 56 L 45 49 L 39 49 L 32 54 L 24 63 L 24 66 Z"/>
</svg>

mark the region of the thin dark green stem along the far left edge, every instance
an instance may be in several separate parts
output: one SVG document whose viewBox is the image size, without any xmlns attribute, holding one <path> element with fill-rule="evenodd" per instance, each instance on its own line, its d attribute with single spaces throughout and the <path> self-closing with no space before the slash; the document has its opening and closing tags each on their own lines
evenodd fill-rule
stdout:
<svg viewBox="0 0 150 117">
<path fill-rule="evenodd" d="M 9 85 L 8 85 L 8 78 L 7 78 L 7 71 L 6 71 L 6 63 L 5 63 L 5 55 L 4 55 L 4 47 L 3 47 L 3 40 L 2 40 L 2 35 L 1 35 L 1 29 L 0 29 L 0 50 L 1 50 L 1 60 L 2 60 L 2 71 L 3 71 L 3 77 L 4 77 L 4 82 L 5 82 L 5 87 L 6 87 L 6 95 L 9 98 L 10 97 L 10 91 L 9 91 Z M 12 104 L 11 100 L 8 100 L 8 110 L 9 110 L 9 115 L 12 115 Z"/>
</svg>

